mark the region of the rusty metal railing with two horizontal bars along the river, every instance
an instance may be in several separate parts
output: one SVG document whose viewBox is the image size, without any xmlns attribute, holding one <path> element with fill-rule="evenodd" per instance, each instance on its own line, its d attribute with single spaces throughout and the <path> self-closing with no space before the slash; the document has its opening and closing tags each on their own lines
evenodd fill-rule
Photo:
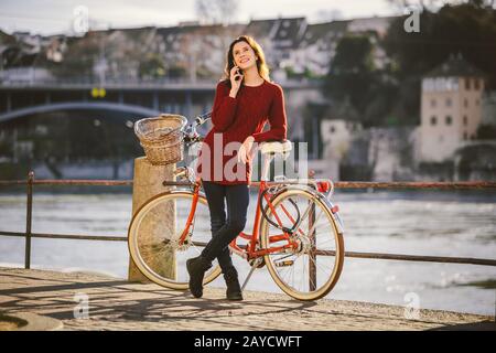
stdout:
<svg viewBox="0 0 496 353">
<path fill-rule="evenodd" d="M 270 182 L 269 182 L 270 184 Z M 0 229 L 0 236 L 14 236 L 25 238 L 24 267 L 31 267 L 31 239 L 32 238 L 56 238 L 56 239 L 78 239 L 78 240 L 107 240 L 127 242 L 125 236 L 100 236 L 100 235 L 75 235 L 75 234 L 46 234 L 32 232 L 32 210 L 33 210 L 33 186 L 34 185 L 132 185 L 132 180 L 35 180 L 34 172 L 30 172 L 26 180 L 0 180 L 0 186 L 4 185 L 26 185 L 26 222 L 25 232 L 4 232 Z M 190 185 L 187 182 L 164 182 L 164 186 Z M 252 182 L 251 186 L 258 186 L 259 182 Z M 467 182 L 335 182 L 336 189 L 436 189 L 436 190 L 496 190 L 496 182 L 490 181 L 467 181 Z M 321 255 L 334 255 L 333 252 L 319 252 Z M 422 256 L 407 254 L 381 254 L 381 253 L 358 253 L 345 252 L 345 257 L 403 260 L 403 261 L 428 261 L 445 264 L 468 264 L 496 266 L 496 259 L 470 258 L 470 257 L 445 257 L 445 256 Z"/>
</svg>

